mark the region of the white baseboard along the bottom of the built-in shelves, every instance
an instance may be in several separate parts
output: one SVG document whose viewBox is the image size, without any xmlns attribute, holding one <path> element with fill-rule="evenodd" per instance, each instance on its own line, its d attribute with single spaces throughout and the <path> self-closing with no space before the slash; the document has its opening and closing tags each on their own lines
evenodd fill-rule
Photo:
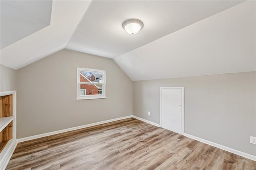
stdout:
<svg viewBox="0 0 256 170">
<path fill-rule="evenodd" d="M 12 154 L 17 146 L 17 140 L 13 139 L 12 141 L 8 141 L 4 149 L 2 150 L 0 157 L 0 170 L 5 170 L 10 158 L 12 157 Z M 6 149 L 6 150 L 5 150 Z"/>
</svg>

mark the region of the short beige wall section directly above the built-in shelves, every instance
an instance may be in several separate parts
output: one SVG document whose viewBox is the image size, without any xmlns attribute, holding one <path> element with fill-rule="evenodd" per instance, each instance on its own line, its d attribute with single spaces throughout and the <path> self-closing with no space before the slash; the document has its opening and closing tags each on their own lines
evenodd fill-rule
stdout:
<svg viewBox="0 0 256 170">
<path fill-rule="evenodd" d="M 16 90 L 16 70 L 0 64 L 1 86 L 0 91 Z"/>
</svg>

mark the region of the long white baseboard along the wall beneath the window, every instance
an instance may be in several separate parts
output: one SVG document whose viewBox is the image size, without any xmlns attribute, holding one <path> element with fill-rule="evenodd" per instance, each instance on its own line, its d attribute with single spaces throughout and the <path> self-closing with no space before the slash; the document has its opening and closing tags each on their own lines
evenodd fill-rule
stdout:
<svg viewBox="0 0 256 170">
<path fill-rule="evenodd" d="M 119 118 L 116 118 L 116 119 L 110 119 L 110 120 L 100 121 L 100 122 L 96 122 L 96 123 L 90 123 L 90 124 L 87 124 L 87 125 L 82 125 L 82 126 L 77 126 L 77 127 L 71 127 L 71 128 L 63 129 L 63 130 L 59 130 L 59 131 L 53 131 L 53 132 L 49 132 L 49 133 L 43 133 L 43 134 L 40 134 L 40 135 L 34 135 L 34 136 L 30 136 L 30 137 L 24 137 L 24 138 L 17 139 L 17 142 L 20 143 L 20 142 L 30 141 L 30 140 L 38 139 L 38 138 L 41 138 L 41 137 L 47 137 L 47 136 L 50 136 L 50 135 L 56 135 L 56 134 L 59 134 L 59 133 L 64 133 L 64 132 L 68 132 L 68 131 L 74 131 L 74 130 L 82 129 L 82 128 L 85 128 L 85 127 L 91 127 L 91 126 L 101 125 L 101 124 L 104 124 L 104 123 L 110 123 L 110 122 L 112 122 L 112 121 L 118 121 L 118 120 L 127 119 L 127 118 L 131 118 L 131 117 L 132 117 L 132 115 L 130 115 L 130 116 L 125 116 L 125 117 L 119 117 Z"/>
</svg>

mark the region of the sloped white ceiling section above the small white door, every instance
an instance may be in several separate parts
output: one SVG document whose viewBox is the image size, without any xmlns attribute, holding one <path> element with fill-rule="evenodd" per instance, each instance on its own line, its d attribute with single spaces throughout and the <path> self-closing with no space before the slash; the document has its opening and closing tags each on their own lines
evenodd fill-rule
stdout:
<svg viewBox="0 0 256 170">
<path fill-rule="evenodd" d="M 114 61 L 132 80 L 255 71 L 255 8 L 244 2 Z"/>
</svg>

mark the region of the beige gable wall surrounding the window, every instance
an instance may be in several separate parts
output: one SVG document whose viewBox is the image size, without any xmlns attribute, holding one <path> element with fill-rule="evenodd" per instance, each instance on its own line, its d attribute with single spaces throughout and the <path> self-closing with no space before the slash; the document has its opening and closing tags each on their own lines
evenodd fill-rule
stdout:
<svg viewBox="0 0 256 170">
<path fill-rule="evenodd" d="M 77 67 L 106 70 L 106 99 L 76 100 Z M 62 50 L 17 70 L 17 138 L 132 115 L 132 80 L 112 59 Z"/>
</svg>

